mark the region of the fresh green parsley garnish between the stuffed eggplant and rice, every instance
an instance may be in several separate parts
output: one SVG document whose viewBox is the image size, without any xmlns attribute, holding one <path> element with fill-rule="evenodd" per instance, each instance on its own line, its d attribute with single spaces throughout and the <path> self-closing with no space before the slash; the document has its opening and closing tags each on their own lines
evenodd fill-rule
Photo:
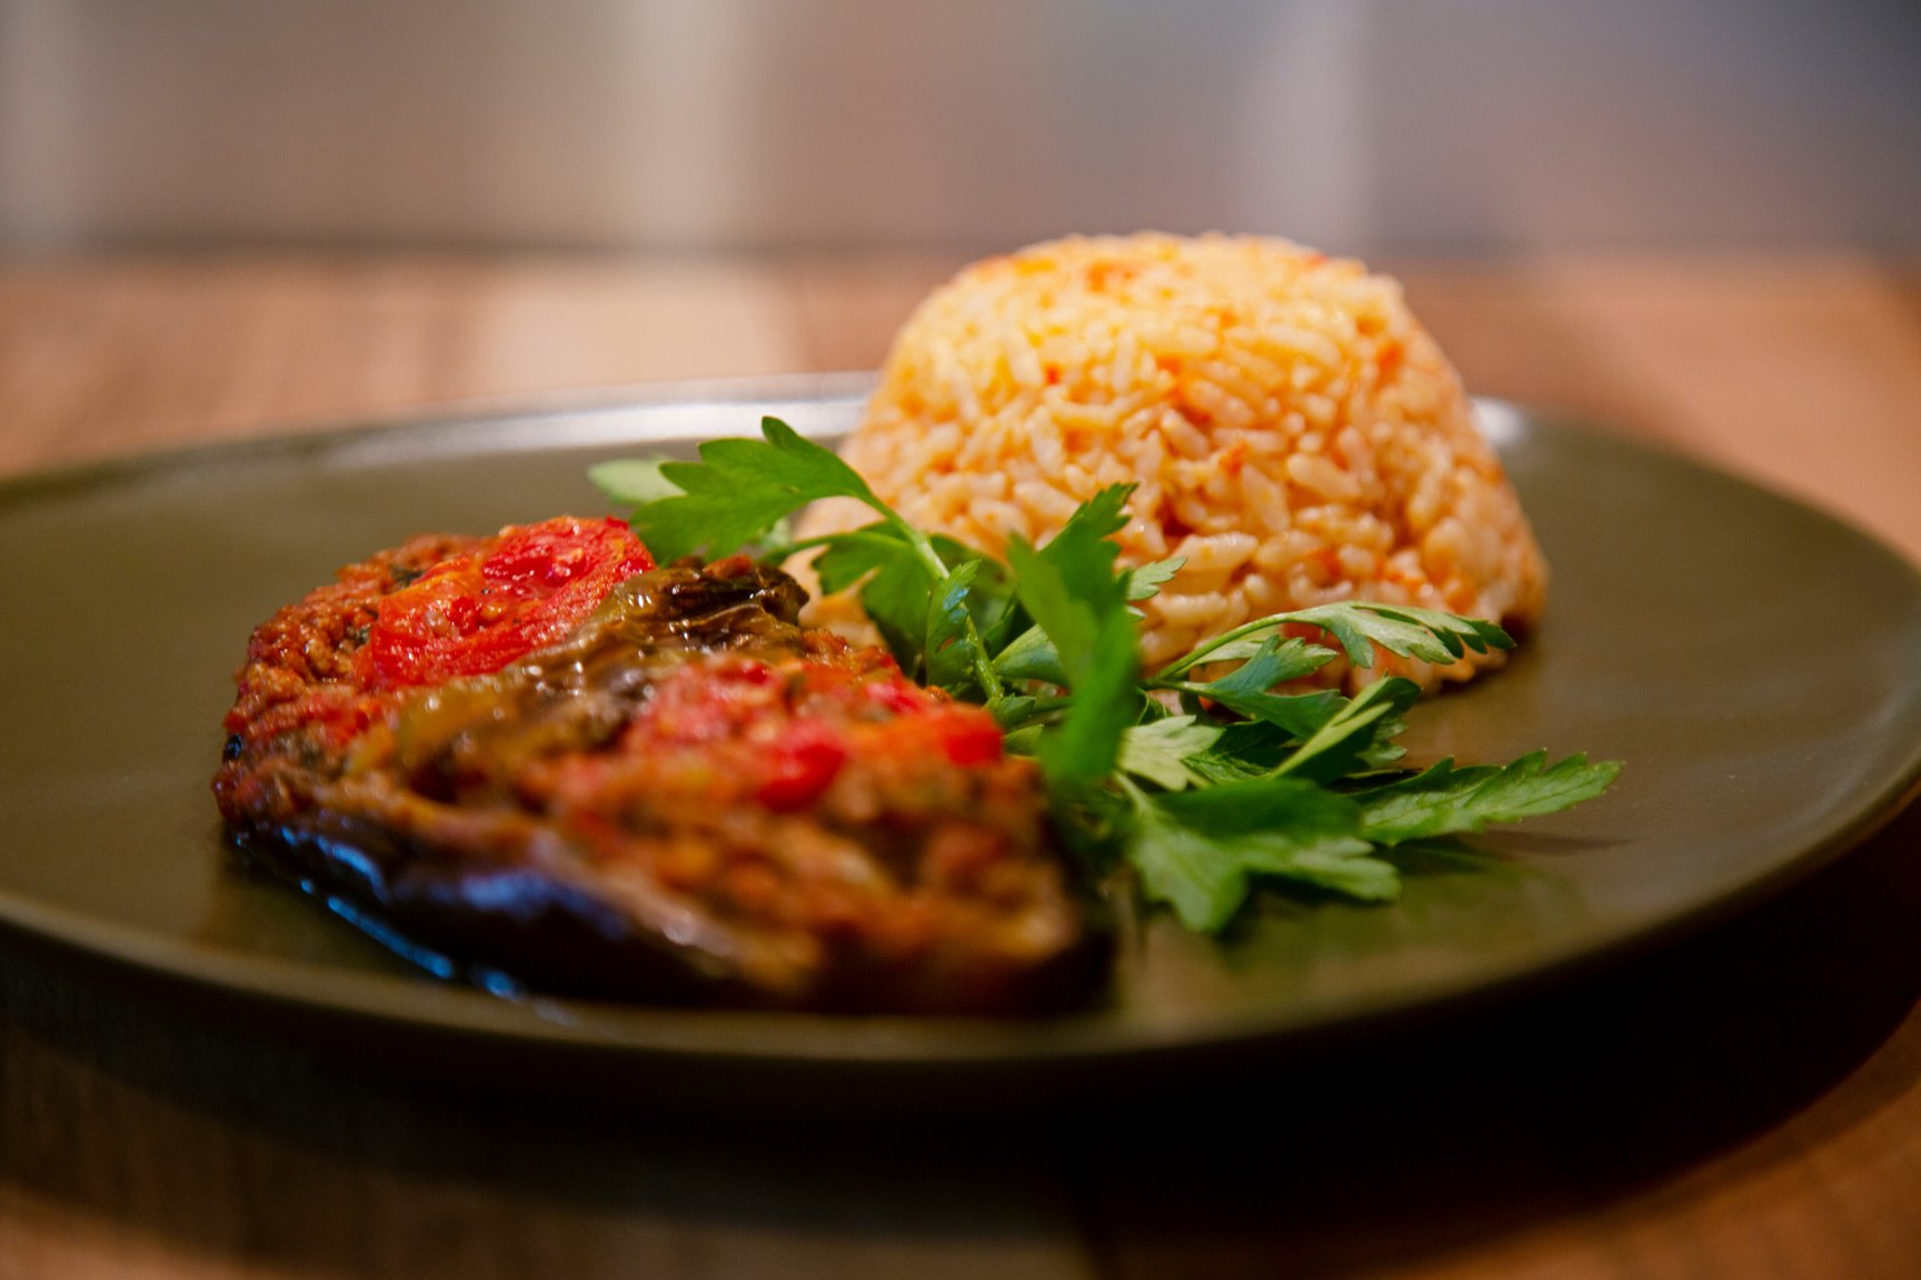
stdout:
<svg viewBox="0 0 1921 1280">
<path fill-rule="evenodd" d="M 1035 756 L 1068 844 L 1130 865 L 1143 894 L 1189 929 L 1226 927 L 1260 881 L 1393 900 L 1397 846 L 1569 808 L 1621 768 L 1533 752 L 1508 766 L 1397 770 L 1395 737 L 1420 699 L 1416 683 L 1387 677 L 1352 699 L 1285 691 L 1337 656 L 1372 668 L 1377 651 L 1454 662 L 1512 647 L 1491 622 L 1318 604 L 1243 624 L 1145 672 L 1135 604 L 1181 562 L 1118 566 L 1112 537 L 1128 522 L 1131 486 L 1103 489 L 1039 547 L 1012 539 L 1003 566 L 916 530 L 786 422 L 763 418 L 761 432 L 705 443 L 699 462 L 603 462 L 592 478 L 634 507 L 634 530 L 663 562 L 818 551 L 822 589 L 855 589 L 907 674 L 985 704 L 1009 750 Z M 788 518 L 828 497 L 855 499 L 878 520 L 795 541 Z"/>
</svg>

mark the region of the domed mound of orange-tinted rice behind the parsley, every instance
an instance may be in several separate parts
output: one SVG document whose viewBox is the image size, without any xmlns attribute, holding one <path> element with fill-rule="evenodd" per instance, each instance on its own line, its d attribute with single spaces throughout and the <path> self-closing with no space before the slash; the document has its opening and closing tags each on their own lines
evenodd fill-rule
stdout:
<svg viewBox="0 0 1921 1280">
<path fill-rule="evenodd" d="M 1325 601 L 1525 628 L 1546 585 L 1398 284 L 1283 240 L 1070 238 L 976 263 L 901 330 L 843 455 L 909 520 L 993 555 L 1139 484 L 1124 562 L 1187 558 L 1143 604 L 1149 666 Z M 868 518 L 822 509 L 809 532 Z M 1374 674 L 1431 687 L 1487 664 Z"/>
</svg>

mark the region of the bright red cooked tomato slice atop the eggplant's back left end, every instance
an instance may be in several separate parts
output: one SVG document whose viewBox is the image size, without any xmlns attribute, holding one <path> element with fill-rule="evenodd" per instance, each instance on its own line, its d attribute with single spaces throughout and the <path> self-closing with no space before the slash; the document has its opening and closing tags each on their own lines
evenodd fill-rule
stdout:
<svg viewBox="0 0 1921 1280">
<path fill-rule="evenodd" d="M 653 557 L 622 520 L 513 526 L 486 555 L 451 557 L 380 601 L 355 654 L 367 689 L 486 676 L 580 626 Z"/>
</svg>

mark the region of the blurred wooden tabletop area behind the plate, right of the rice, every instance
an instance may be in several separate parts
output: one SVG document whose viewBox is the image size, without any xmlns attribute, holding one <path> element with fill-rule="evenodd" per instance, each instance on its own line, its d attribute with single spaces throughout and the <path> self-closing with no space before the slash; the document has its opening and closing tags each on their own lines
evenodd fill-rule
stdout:
<svg viewBox="0 0 1921 1280">
<path fill-rule="evenodd" d="M 1921 558 L 1921 322 L 1846 255 L 1400 271 L 1468 386 L 1702 455 Z"/>
</svg>

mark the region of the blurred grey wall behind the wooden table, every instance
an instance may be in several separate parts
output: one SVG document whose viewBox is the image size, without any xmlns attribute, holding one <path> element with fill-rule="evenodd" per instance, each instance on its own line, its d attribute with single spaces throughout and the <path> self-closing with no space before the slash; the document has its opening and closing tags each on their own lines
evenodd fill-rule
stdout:
<svg viewBox="0 0 1921 1280">
<path fill-rule="evenodd" d="M 1921 244 L 1911 0 L 0 0 L 0 246 Z"/>
</svg>

